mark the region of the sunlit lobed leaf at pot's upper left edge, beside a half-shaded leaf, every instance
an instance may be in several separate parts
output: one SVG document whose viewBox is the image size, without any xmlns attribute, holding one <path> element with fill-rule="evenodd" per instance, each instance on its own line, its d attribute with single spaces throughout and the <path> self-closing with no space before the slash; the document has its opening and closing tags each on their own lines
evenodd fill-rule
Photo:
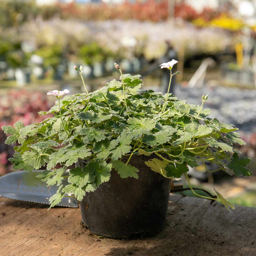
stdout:
<svg viewBox="0 0 256 256">
<path fill-rule="evenodd" d="M 69 171 L 69 175 L 68 182 L 76 184 L 78 187 L 84 187 L 95 180 L 94 171 L 86 167 L 72 169 Z"/>
</svg>

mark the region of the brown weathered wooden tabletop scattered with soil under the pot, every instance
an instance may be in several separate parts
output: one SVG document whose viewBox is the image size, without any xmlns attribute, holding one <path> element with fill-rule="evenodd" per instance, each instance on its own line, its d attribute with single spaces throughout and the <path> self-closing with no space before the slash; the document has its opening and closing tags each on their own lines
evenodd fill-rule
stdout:
<svg viewBox="0 0 256 256">
<path fill-rule="evenodd" d="M 113 240 L 81 225 L 80 209 L 0 197 L 0 255 L 256 255 L 256 208 L 170 196 L 166 228 L 155 237 Z"/>
</svg>

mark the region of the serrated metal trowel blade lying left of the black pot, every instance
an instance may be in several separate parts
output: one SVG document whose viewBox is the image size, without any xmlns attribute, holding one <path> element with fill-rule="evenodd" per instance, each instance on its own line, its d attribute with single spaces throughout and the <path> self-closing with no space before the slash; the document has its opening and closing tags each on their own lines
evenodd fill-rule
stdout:
<svg viewBox="0 0 256 256">
<path fill-rule="evenodd" d="M 9 199 L 49 204 L 49 197 L 57 192 L 57 186 L 48 186 L 36 175 L 43 171 L 17 171 L 0 177 L 0 196 Z M 59 206 L 77 208 L 75 197 L 63 197 Z"/>
</svg>

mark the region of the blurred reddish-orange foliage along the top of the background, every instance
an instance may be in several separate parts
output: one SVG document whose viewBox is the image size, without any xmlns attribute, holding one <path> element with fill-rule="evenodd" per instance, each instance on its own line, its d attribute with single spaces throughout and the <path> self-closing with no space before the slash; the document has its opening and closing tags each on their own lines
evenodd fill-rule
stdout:
<svg viewBox="0 0 256 256">
<path fill-rule="evenodd" d="M 168 19 L 168 1 L 147 0 L 131 3 L 125 1 L 120 4 L 87 3 L 78 4 L 59 3 L 60 15 L 62 18 L 76 18 L 81 20 L 106 20 L 106 19 L 135 19 L 160 22 Z M 178 3 L 174 9 L 175 18 L 182 18 L 191 21 L 197 18 L 210 20 L 216 16 L 216 12 L 205 8 L 197 12 L 192 6 L 186 3 Z"/>
</svg>

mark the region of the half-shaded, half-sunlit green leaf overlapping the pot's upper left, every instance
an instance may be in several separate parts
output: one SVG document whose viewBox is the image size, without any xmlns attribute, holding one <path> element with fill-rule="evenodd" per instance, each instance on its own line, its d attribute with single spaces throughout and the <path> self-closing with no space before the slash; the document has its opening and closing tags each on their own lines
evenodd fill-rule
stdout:
<svg viewBox="0 0 256 256">
<path fill-rule="evenodd" d="M 94 171 L 96 187 L 103 182 L 109 181 L 112 164 L 106 162 L 90 162 L 86 170 Z"/>
</svg>

